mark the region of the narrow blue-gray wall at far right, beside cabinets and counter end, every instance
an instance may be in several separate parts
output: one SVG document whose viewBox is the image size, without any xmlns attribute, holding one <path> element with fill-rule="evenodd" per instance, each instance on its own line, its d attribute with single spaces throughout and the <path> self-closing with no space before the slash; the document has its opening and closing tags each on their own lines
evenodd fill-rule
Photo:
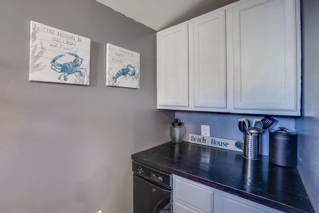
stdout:
<svg viewBox="0 0 319 213">
<path fill-rule="evenodd" d="M 319 213 L 319 1 L 302 0 L 303 101 L 298 131 L 298 171 Z"/>
</svg>

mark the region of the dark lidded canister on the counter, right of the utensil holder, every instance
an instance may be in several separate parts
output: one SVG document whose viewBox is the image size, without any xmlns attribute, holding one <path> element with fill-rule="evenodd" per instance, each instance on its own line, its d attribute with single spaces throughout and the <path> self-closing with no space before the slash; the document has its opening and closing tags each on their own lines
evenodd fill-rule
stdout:
<svg viewBox="0 0 319 213">
<path fill-rule="evenodd" d="M 297 166 L 297 139 L 298 134 L 285 127 L 269 130 L 269 161 L 279 166 Z"/>
</svg>

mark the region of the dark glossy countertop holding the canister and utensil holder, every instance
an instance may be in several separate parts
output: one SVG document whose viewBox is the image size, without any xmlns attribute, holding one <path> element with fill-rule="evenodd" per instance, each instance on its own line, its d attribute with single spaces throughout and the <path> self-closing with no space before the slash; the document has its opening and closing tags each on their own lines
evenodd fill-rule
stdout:
<svg viewBox="0 0 319 213">
<path fill-rule="evenodd" d="M 132 159 L 283 212 L 313 213 L 296 167 L 274 165 L 268 156 L 247 160 L 241 152 L 167 142 Z"/>
</svg>

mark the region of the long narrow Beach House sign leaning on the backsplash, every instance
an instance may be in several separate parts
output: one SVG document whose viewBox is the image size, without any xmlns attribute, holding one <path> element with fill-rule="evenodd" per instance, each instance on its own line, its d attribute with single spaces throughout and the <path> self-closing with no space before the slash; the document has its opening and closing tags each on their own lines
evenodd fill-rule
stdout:
<svg viewBox="0 0 319 213">
<path fill-rule="evenodd" d="M 237 147 L 242 146 L 241 141 L 223 139 L 218 137 L 206 137 L 196 134 L 189 134 L 189 143 L 197 143 L 205 146 L 213 146 L 222 149 L 233 150 L 237 152 L 242 152 L 243 150 Z M 241 145 L 240 145 L 241 144 Z"/>
</svg>

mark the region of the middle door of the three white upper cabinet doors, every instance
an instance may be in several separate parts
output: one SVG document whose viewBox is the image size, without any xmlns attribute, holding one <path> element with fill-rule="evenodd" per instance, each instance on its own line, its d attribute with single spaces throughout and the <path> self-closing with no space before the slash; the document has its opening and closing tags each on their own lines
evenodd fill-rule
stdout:
<svg viewBox="0 0 319 213">
<path fill-rule="evenodd" d="M 189 71 L 194 107 L 226 108 L 225 10 L 189 23 Z"/>
</svg>

